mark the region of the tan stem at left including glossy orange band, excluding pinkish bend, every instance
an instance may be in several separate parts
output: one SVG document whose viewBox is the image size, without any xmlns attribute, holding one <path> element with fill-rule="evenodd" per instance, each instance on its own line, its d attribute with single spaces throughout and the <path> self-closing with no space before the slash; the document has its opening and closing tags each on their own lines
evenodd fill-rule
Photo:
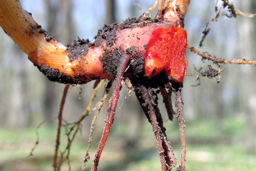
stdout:
<svg viewBox="0 0 256 171">
<path fill-rule="evenodd" d="M 35 65 L 48 65 L 52 68 L 66 66 L 60 71 L 70 72 L 66 47 L 55 39 L 46 41 L 44 33 L 40 32 L 41 25 L 38 25 L 31 13 L 23 9 L 19 1 L 0 1 L 0 26 Z"/>
</svg>

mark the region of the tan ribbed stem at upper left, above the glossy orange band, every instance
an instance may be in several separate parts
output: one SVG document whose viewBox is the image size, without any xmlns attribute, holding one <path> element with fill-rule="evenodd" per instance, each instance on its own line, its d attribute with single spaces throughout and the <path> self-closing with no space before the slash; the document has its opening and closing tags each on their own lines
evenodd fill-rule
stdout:
<svg viewBox="0 0 256 171">
<path fill-rule="evenodd" d="M 0 25 L 5 33 L 26 53 L 30 54 L 38 49 L 66 49 L 64 45 L 53 39 L 45 40 L 45 35 L 40 34 L 42 29 L 31 13 L 23 9 L 19 1 L 0 1 Z"/>
</svg>

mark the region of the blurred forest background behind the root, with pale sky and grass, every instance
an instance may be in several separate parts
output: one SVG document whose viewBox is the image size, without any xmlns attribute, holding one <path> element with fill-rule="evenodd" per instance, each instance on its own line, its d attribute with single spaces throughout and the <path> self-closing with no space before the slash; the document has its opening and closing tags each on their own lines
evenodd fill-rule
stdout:
<svg viewBox="0 0 256 171">
<path fill-rule="evenodd" d="M 80 38 L 97 34 L 104 24 L 122 22 L 140 16 L 139 3 L 145 11 L 155 0 L 20 0 L 24 9 L 31 12 L 35 21 L 57 38 L 68 44 Z M 219 1 L 219 4 L 222 1 Z M 185 17 L 188 43 L 199 46 L 207 21 L 215 15 L 215 0 L 191 0 Z M 256 13 L 255 0 L 233 1 L 234 6 L 246 13 Z M 152 16 L 154 17 L 154 10 Z M 244 57 L 256 60 L 256 18 L 221 17 L 211 24 L 202 52 L 228 60 Z M 39 129 L 39 145 L 34 156 L 26 159 L 35 144 L 35 128 L 44 119 L 58 115 L 64 85 L 50 82 L 33 66 L 12 40 L 0 29 L 0 170 L 34 171 L 52 170 L 57 121 L 49 121 Z M 256 68 L 252 65 L 221 65 L 220 83 L 216 78 L 195 76 L 202 66 L 201 58 L 187 51 L 189 61 L 183 88 L 184 117 L 187 137 L 187 169 L 193 170 L 256 170 Z M 217 69 L 209 61 L 205 61 Z M 193 76 L 191 76 L 193 75 Z M 75 122 L 87 106 L 93 92 L 93 82 L 71 87 L 64 107 L 64 119 Z M 98 102 L 103 95 L 98 93 Z M 110 93 L 111 94 L 111 93 Z M 174 97 L 173 97 L 174 98 Z M 105 104 L 96 122 L 90 156 L 98 146 L 107 116 Z M 159 97 L 159 107 L 166 119 L 167 136 L 180 158 L 180 135 L 177 119 L 169 121 Z M 90 123 L 96 111 L 82 122 L 71 151 L 72 170 L 81 170 L 87 147 Z M 65 146 L 64 130 L 61 148 Z M 87 163 L 90 167 L 92 159 Z M 68 170 L 68 165 L 63 167 Z M 160 170 L 156 140 L 144 113 L 132 94 L 125 89 L 119 98 L 110 137 L 100 161 L 103 171 Z"/>
</svg>

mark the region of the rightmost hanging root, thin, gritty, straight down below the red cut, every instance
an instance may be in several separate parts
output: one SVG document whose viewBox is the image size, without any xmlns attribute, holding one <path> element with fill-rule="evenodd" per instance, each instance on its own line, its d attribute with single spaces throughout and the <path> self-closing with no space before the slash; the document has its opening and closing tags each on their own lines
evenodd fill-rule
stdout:
<svg viewBox="0 0 256 171">
<path fill-rule="evenodd" d="M 187 148 L 186 148 L 186 137 L 185 137 L 185 130 L 184 130 L 185 125 L 184 125 L 184 119 L 182 114 L 182 107 L 183 107 L 182 98 L 181 98 L 182 84 L 177 83 L 177 84 L 172 84 L 172 86 L 176 90 L 175 106 L 177 107 L 177 112 L 178 112 L 177 118 L 180 125 L 180 138 L 181 138 L 181 163 L 177 168 L 177 171 L 186 171 L 185 163 L 186 163 Z"/>
</svg>

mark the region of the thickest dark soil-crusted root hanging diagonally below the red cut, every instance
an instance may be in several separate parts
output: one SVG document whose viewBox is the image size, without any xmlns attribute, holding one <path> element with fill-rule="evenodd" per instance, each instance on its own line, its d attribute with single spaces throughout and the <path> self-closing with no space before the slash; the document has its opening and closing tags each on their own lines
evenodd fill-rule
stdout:
<svg viewBox="0 0 256 171">
<path fill-rule="evenodd" d="M 176 165 L 176 159 L 166 137 L 166 129 L 163 127 L 162 117 L 157 107 L 157 96 L 152 89 L 146 88 L 144 85 L 134 85 L 134 89 L 148 121 L 152 124 L 162 171 L 169 171 Z"/>
</svg>

